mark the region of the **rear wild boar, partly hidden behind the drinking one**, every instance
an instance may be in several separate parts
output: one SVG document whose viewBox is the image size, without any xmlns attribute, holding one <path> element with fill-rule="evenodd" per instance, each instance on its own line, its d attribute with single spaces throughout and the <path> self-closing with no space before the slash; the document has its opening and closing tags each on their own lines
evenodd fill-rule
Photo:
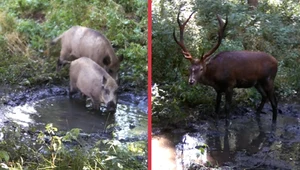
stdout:
<svg viewBox="0 0 300 170">
<path fill-rule="evenodd" d="M 123 57 L 115 55 L 110 41 L 103 34 L 90 28 L 73 26 L 53 39 L 51 45 L 59 40 L 61 40 L 61 51 L 56 71 L 60 71 L 70 61 L 85 56 L 95 61 L 115 80 L 118 80 L 118 71 Z"/>
</svg>

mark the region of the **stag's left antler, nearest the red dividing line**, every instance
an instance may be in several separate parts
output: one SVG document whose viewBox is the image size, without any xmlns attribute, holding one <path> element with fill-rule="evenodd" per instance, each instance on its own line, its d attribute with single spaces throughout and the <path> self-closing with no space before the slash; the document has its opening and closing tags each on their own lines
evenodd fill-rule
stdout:
<svg viewBox="0 0 300 170">
<path fill-rule="evenodd" d="M 185 47 L 184 45 L 184 40 L 183 40 L 183 32 L 184 32 L 184 27 L 185 25 L 187 24 L 187 22 L 191 19 L 192 15 L 195 13 L 196 11 L 192 12 L 191 15 L 189 16 L 189 18 L 183 23 L 181 24 L 180 23 L 180 20 L 179 20 L 179 15 L 180 15 L 180 9 L 179 9 L 179 12 L 177 14 L 177 23 L 179 25 L 179 29 L 180 29 L 180 41 L 177 40 L 176 36 L 175 36 L 175 29 L 173 31 L 173 37 L 174 37 L 174 40 L 175 42 L 181 47 L 182 49 L 182 54 L 184 55 L 184 57 L 186 59 L 193 59 L 191 53 L 187 50 L 187 48 Z"/>
</svg>

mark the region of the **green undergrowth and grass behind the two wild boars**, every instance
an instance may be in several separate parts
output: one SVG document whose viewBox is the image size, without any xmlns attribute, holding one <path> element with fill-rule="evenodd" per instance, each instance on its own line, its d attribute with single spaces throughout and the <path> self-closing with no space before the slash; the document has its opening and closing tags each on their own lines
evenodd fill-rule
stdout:
<svg viewBox="0 0 300 170">
<path fill-rule="evenodd" d="M 0 68 L 0 83 L 27 82 L 25 84 L 33 86 L 63 82 L 64 77 L 68 77 L 67 71 L 55 73 L 60 46 L 50 48 L 49 42 L 71 26 L 82 25 L 106 35 L 117 47 L 117 54 L 124 56 L 120 69 L 123 80 L 135 81 L 136 86 L 145 88 L 147 79 L 145 76 L 139 79 L 139 76 L 147 75 L 147 2 L 130 2 L 1 1 L 0 59 L 7 64 Z M 15 58 L 20 58 L 21 62 Z M 27 70 L 28 64 L 34 68 L 29 68 L 26 77 L 20 70 Z M 8 71 L 12 71 L 13 76 L 8 77 Z"/>
</svg>

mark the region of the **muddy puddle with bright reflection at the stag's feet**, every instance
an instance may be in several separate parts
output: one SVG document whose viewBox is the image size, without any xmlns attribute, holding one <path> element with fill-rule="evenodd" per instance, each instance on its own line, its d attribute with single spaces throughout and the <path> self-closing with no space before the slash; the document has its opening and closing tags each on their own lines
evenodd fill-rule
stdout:
<svg viewBox="0 0 300 170">
<path fill-rule="evenodd" d="M 275 125 L 266 106 L 266 114 L 259 117 L 246 109 L 227 122 L 201 120 L 190 128 L 154 128 L 153 170 L 300 169 L 299 103 L 280 104 Z"/>
</svg>

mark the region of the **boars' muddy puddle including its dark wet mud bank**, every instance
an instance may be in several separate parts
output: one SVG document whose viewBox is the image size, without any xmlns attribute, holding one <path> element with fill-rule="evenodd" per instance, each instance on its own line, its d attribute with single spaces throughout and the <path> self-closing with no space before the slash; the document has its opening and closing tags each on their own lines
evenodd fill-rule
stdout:
<svg viewBox="0 0 300 170">
<path fill-rule="evenodd" d="M 69 99 L 67 88 L 49 87 L 10 93 L 0 90 L 0 125 L 15 122 L 44 129 L 53 123 L 59 130 L 80 128 L 87 134 L 101 134 L 124 142 L 147 140 L 147 96 L 130 92 L 119 95 L 116 113 L 86 107 L 79 95 Z"/>
</svg>

